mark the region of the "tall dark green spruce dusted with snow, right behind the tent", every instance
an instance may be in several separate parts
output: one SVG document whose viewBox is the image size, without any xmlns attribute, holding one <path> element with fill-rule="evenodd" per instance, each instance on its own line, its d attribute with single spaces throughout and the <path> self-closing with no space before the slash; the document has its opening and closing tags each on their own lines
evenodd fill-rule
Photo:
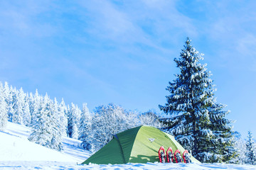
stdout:
<svg viewBox="0 0 256 170">
<path fill-rule="evenodd" d="M 215 103 L 210 72 L 200 60 L 203 60 L 203 54 L 199 54 L 187 38 L 180 58 L 174 59 L 181 73 L 175 75 L 174 82 L 169 82 L 166 88 L 170 92 L 166 96 L 167 103 L 165 106 L 159 105 L 159 108 L 172 115 L 162 120 L 169 125 L 169 132 L 196 159 L 201 162 L 222 162 L 233 157 L 233 153 L 224 157 L 221 152 L 221 149 L 226 151 L 232 147 L 231 121 L 224 118 L 228 114 L 228 111 L 222 111 L 224 106 Z M 221 145 L 222 141 L 225 141 L 225 145 Z"/>
</svg>

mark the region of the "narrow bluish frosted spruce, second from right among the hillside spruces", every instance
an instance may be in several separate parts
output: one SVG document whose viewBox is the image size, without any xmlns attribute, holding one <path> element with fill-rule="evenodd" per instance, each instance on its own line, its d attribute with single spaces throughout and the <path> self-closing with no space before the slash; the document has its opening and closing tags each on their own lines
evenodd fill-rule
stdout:
<svg viewBox="0 0 256 170">
<path fill-rule="evenodd" d="M 71 103 L 71 108 L 68 114 L 68 136 L 78 139 L 78 125 L 81 111 L 78 106 Z"/>
</svg>

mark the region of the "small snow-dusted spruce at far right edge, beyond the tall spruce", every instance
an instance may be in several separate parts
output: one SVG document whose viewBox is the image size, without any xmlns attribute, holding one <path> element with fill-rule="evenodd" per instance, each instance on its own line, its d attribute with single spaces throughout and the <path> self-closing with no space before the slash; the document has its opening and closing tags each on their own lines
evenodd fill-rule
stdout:
<svg viewBox="0 0 256 170">
<path fill-rule="evenodd" d="M 246 142 L 246 152 L 245 152 L 245 164 L 256 164 L 256 150 L 255 142 L 253 141 L 252 132 L 248 132 L 248 140 Z"/>
</svg>

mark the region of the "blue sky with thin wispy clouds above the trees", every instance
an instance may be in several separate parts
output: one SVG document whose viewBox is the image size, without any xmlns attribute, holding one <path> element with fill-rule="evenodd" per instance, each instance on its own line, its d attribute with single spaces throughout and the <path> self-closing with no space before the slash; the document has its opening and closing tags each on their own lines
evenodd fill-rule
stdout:
<svg viewBox="0 0 256 170">
<path fill-rule="evenodd" d="M 0 81 L 140 112 L 166 103 L 186 37 L 234 130 L 256 137 L 256 1 L 1 1 Z"/>
</svg>

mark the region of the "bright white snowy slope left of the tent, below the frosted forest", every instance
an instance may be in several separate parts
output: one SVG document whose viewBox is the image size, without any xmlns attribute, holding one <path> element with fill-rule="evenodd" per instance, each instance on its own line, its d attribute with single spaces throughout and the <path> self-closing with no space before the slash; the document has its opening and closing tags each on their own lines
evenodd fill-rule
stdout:
<svg viewBox="0 0 256 170">
<path fill-rule="evenodd" d="M 80 149 L 80 140 L 63 137 L 63 152 L 57 152 L 27 140 L 31 129 L 8 123 L 5 132 L 0 131 L 1 161 L 55 161 L 81 163 L 90 153 Z"/>
</svg>

